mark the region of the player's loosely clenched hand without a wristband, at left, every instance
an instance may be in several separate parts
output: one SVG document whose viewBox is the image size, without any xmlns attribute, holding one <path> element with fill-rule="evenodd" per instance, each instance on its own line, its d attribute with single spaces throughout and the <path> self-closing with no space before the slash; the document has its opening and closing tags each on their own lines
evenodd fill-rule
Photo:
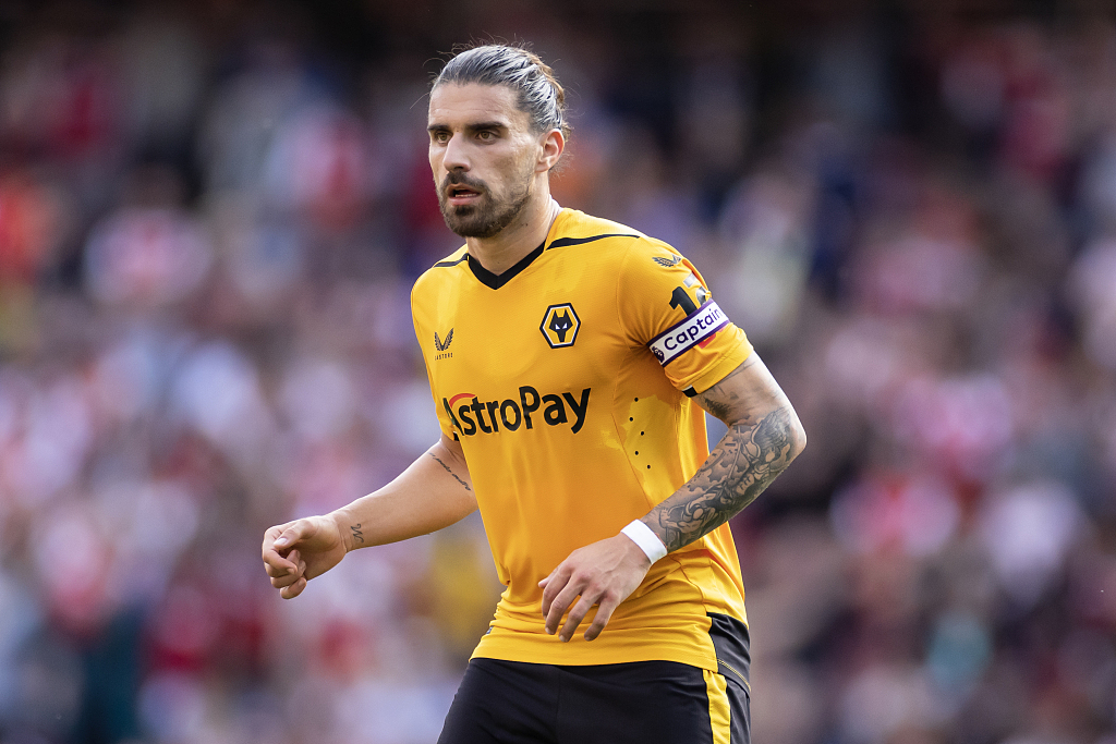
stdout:
<svg viewBox="0 0 1116 744">
<path fill-rule="evenodd" d="M 263 533 L 263 568 L 283 599 L 294 599 L 306 582 L 345 558 L 347 548 L 331 516 L 309 516 Z"/>
</svg>

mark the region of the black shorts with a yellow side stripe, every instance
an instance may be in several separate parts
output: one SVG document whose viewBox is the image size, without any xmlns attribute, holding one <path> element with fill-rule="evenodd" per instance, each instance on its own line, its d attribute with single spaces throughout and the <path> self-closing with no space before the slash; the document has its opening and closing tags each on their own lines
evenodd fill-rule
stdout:
<svg viewBox="0 0 1116 744">
<path fill-rule="evenodd" d="M 439 744 L 748 744 L 748 628 L 710 617 L 715 673 L 675 661 L 474 658 Z"/>
</svg>

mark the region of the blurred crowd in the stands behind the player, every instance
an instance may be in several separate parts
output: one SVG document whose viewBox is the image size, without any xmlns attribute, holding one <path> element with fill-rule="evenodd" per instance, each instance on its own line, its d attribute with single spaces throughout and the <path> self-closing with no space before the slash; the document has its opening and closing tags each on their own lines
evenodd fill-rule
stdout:
<svg viewBox="0 0 1116 744">
<path fill-rule="evenodd" d="M 1116 744 L 1116 15 L 776 4 L 0 3 L 0 742 L 435 741 L 479 520 L 286 603 L 259 543 L 436 436 L 424 94 L 491 36 L 809 432 L 733 525 L 757 744 Z"/>
</svg>

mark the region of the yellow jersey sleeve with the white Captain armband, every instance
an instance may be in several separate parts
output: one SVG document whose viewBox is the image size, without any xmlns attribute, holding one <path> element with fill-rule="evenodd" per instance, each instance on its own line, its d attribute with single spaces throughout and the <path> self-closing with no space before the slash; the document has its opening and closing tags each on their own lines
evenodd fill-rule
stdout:
<svg viewBox="0 0 1116 744">
<path fill-rule="evenodd" d="M 752 352 L 744 331 L 713 300 L 698 269 L 666 243 L 641 238 L 620 265 L 620 325 L 679 390 L 693 396 L 724 379 Z"/>
</svg>

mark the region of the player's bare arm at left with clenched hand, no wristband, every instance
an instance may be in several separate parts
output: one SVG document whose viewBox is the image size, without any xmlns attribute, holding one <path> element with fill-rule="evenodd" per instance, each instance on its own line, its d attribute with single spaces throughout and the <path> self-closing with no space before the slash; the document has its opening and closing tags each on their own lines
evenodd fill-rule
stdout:
<svg viewBox="0 0 1116 744">
<path fill-rule="evenodd" d="M 475 510 L 461 444 L 443 434 L 383 489 L 328 514 L 267 530 L 263 566 L 279 596 L 291 599 L 350 550 L 427 534 Z"/>
</svg>

